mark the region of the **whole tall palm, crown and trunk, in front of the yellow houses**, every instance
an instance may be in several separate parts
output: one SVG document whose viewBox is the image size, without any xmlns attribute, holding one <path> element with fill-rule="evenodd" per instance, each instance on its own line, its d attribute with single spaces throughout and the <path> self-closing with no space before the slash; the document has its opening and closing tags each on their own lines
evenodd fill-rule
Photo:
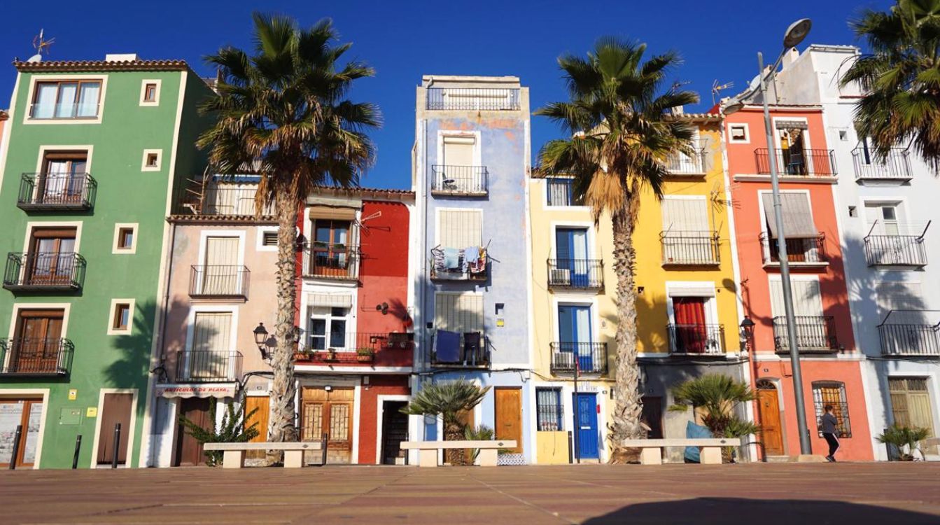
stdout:
<svg viewBox="0 0 940 525">
<path fill-rule="evenodd" d="M 617 274 L 617 386 L 611 439 L 613 461 L 627 458 L 624 439 L 645 438 L 636 363 L 634 229 L 640 192 L 662 197 L 666 158 L 693 153 L 693 130 L 671 108 L 697 103 L 697 94 L 673 85 L 666 73 L 680 63 L 673 52 L 643 62 L 645 44 L 598 40 L 587 58 L 561 56 L 571 100 L 536 111 L 571 138 L 549 141 L 539 152 L 540 173 L 574 177 L 576 197 L 591 207 L 595 223 L 610 215 Z M 661 92 L 663 91 L 663 92 Z"/>
</svg>

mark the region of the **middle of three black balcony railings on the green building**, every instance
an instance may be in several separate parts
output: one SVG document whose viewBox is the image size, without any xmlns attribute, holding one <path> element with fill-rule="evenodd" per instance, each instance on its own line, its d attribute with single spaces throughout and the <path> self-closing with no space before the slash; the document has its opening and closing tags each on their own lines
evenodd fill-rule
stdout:
<svg viewBox="0 0 940 525">
<path fill-rule="evenodd" d="M 3 287 L 20 292 L 77 292 L 85 283 L 85 258 L 73 252 L 9 253 Z"/>
</svg>

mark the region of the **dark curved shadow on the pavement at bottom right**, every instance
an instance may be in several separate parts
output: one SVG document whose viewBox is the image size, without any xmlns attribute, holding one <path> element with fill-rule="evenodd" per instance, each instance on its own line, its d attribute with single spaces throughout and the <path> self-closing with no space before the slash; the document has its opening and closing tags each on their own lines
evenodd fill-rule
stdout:
<svg viewBox="0 0 940 525">
<path fill-rule="evenodd" d="M 601 517 L 593 517 L 585 525 L 608 523 L 759 523 L 760 525 L 853 525 L 867 523 L 898 523 L 919 525 L 940 523 L 940 516 L 921 514 L 848 501 L 814 500 L 746 500 L 743 498 L 697 498 L 694 500 L 637 503 Z"/>
</svg>

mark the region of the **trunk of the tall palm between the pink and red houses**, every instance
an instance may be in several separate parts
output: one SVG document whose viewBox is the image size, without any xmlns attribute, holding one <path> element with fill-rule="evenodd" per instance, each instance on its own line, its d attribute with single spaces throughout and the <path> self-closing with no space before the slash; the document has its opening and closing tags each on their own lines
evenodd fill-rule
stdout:
<svg viewBox="0 0 940 525">
<path fill-rule="evenodd" d="M 280 189 L 280 188 L 279 188 Z M 296 441 L 294 425 L 294 310 L 296 309 L 296 255 L 297 211 L 299 203 L 289 191 L 277 191 L 274 196 L 277 209 L 277 315 L 274 338 L 277 345 L 271 359 L 274 380 L 271 389 L 271 422 L 269 441 Z M 281 453 L 268 454 L 271 461 L 279 461 Z"/>
</svg>

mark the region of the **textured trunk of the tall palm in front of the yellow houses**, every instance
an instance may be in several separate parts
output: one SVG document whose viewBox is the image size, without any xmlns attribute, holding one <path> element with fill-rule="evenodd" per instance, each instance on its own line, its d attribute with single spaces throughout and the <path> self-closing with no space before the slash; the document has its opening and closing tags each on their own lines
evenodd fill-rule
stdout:
<svg viewBox="0 0 940 525">
<path fill-rule="evenodd" d="M 640 369 L 636 363 L 636 287 L 634 229 L 639 195 L 630 192 L 624 209 L 611 217 L 614 230 L 614 272 L 617 274 L 617 385 L 614 390 L 614 416 L 611 428 L 611 463 L 635 461 L 635 449 L 624 447 L 624 439 L 646 438 L 640 424 L 643 403 L 640 398 Z"/>
</svg>

